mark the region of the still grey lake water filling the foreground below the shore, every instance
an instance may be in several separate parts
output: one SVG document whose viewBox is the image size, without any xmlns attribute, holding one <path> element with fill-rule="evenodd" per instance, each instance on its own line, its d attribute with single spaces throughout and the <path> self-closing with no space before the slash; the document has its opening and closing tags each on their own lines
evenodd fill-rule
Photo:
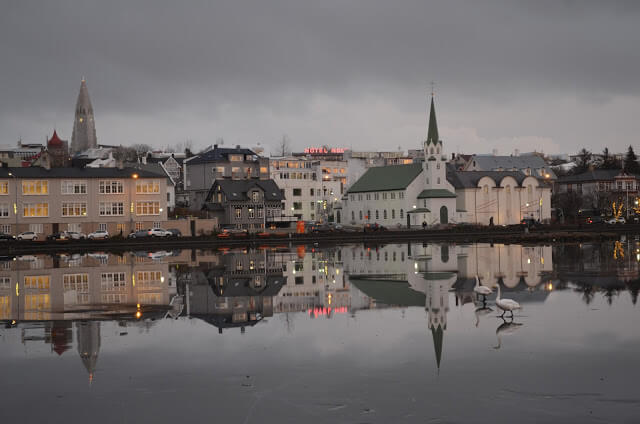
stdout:
<svg viewBox="0 0 640 424">
<path fill-rule="evenodd" d="M 1 259 L 4 422 L 640 421 L 634 238 Z"/>
</svg>

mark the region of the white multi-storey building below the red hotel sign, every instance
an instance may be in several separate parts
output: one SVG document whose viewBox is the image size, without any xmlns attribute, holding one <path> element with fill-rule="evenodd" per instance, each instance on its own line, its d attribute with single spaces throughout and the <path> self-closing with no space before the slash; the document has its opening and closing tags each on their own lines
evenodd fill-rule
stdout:
<svg viewBox="0 0 640 424">
<path fill-rule="evenodd" d="M 270 173 L 284 195 L 283 214 L 327 222 L 342 197 L 347 162 L 287 156 L 270 159 Z"/>
</svg>

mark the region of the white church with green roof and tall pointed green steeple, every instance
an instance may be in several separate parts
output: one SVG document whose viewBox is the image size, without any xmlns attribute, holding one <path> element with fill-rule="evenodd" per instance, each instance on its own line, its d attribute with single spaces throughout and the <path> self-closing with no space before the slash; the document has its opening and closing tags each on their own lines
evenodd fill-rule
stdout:
<svg viewBox="0 0 640 424">
<path fill-rule="evenodd" d="M 424 162 L 369 168 L 343 198 L 343 221 L 389 227 L 422 227 L 463 221 L 456 211 L 456 192 L 447 181 L 447 159 L 433 96 Z"/>
</svg>

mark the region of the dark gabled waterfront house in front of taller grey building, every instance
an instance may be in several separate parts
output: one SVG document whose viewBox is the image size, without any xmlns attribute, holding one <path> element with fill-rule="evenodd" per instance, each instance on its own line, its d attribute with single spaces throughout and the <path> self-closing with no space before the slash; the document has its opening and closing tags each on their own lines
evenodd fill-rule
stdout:
<svg viewBox="0 0 640 424">
<path fill-rule="evenodd" d="M 215 180 L 202 209 L 220 225 L 257 230 L 282 221 L 282 200 L 273 180 Z"/>
</svg>

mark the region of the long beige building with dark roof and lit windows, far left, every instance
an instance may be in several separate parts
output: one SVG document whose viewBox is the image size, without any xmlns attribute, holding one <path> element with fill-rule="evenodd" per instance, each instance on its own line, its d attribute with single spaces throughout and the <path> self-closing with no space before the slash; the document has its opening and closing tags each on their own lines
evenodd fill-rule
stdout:
<svg viewBox="0 0 640 424">
<path fill-rule="evenodd" d="M 0 168 L 0 231 L 127 235 L 167 220 L 167 177 L 135 168 Z"/>
</svg>

